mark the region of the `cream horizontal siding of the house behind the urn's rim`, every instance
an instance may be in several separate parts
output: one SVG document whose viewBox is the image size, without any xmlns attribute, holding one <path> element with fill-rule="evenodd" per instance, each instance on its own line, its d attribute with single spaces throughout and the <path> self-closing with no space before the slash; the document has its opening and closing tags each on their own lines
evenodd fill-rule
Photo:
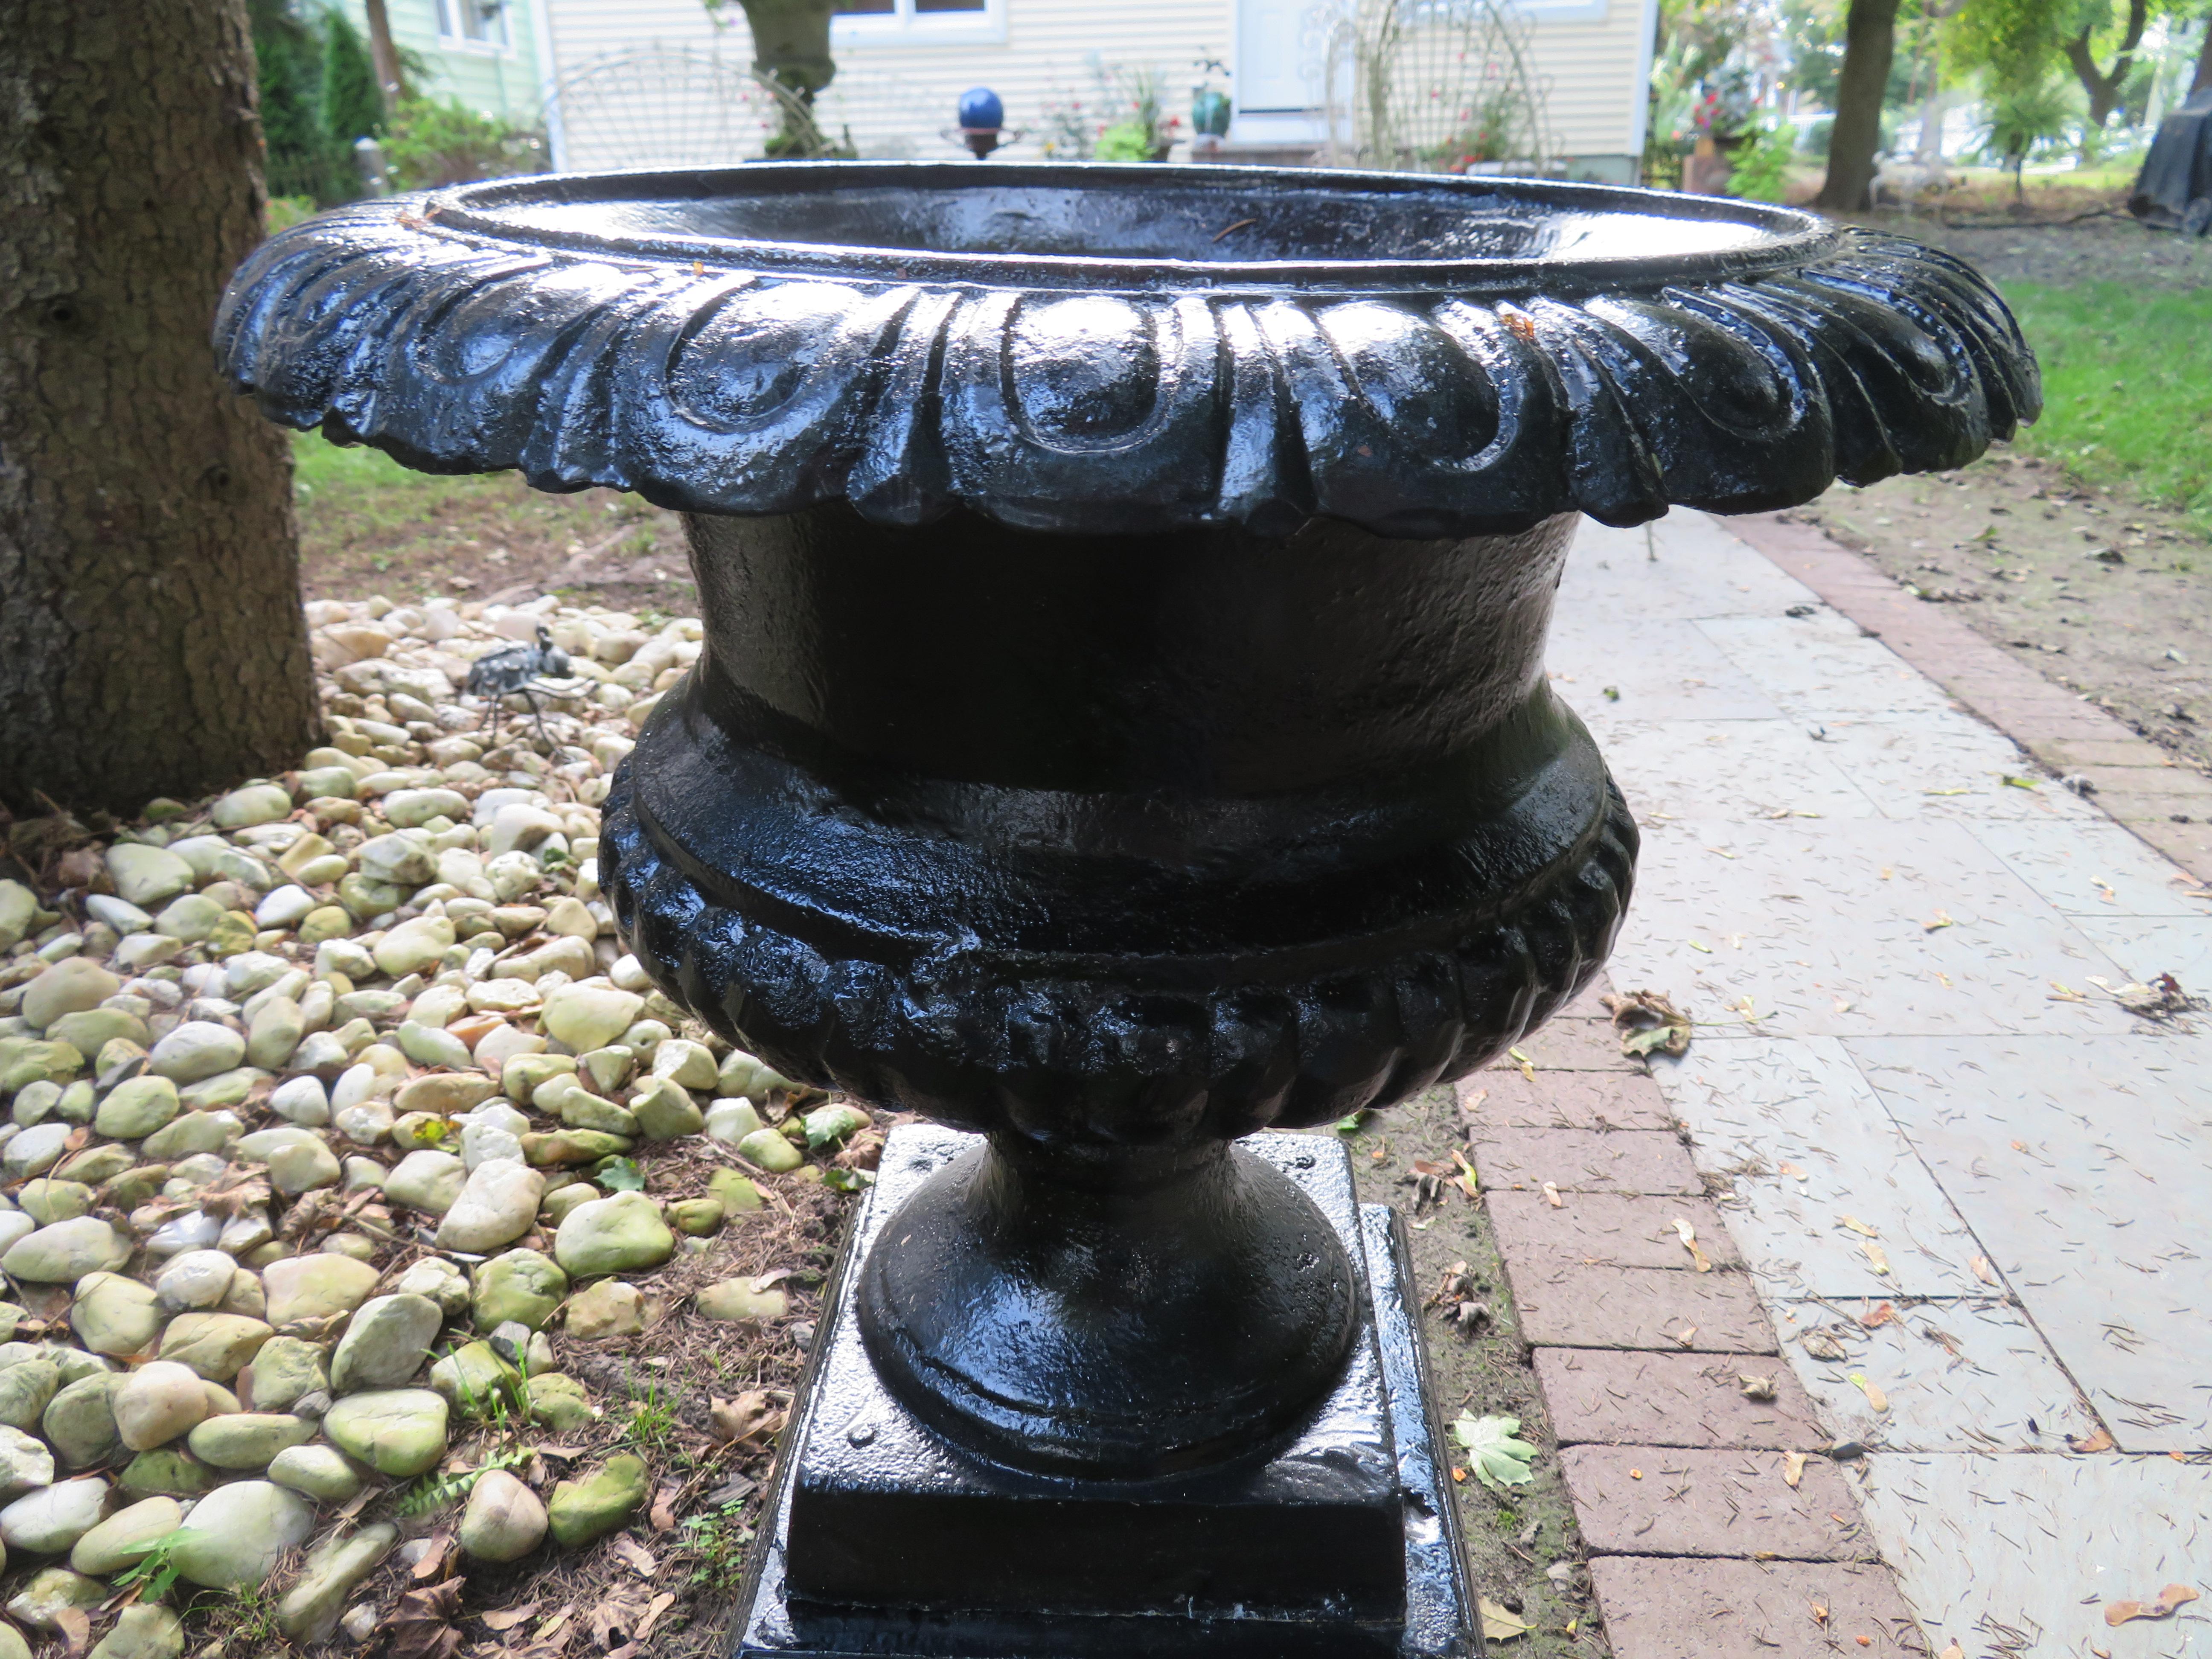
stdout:
<svg viewBox="0 0 2212 1659">
<path fill-rule="evenodd" d="M 1199 62 L 1234 64 L 1237 0 L 993 0 L 989 38 L 931 40 L 922 31 L 854 38 L 838 27 L 836 82 L 823 93 L 825 131 L 852 133 L 863 157 L 953 159 L 945 137 L 969 86 L 991 86 L 1006 124 L 1029 137 L 1002 153 L 1035 159 L 1048 106 L 1082 100 L 1099 111 L 1093 53 L 1108 69 L 1152 66 L 1166 108 L 1188 122 Z M 1298 0 L 1274 0 L 1279 18 Z M 1318 100 L 1318 42 L 1325 7 L 1296 11 L 1301 53 L 1312 60 Z M 1641 150 L 1644 64 L 1655 0 L 1551 0 L 1537 18 L 1535 66 L 1546 88 L 1551 150 L 1579 157 L 1582 173 L 1619 175 Z M 699 0 L 542 0 L 564 168 L 710 164 L 761 153 L 774 117 L 745 84 L 752 44 L 743 13 L 728 4 L 717 27 Z M 1252 15 L 1252 7 L 1243 11 Z M 1234 91 L 1234 82 L 1230 82 Z M 1239 117 L 1232 142 L 1323 139 L 1325 119 Z"/>
</svg>

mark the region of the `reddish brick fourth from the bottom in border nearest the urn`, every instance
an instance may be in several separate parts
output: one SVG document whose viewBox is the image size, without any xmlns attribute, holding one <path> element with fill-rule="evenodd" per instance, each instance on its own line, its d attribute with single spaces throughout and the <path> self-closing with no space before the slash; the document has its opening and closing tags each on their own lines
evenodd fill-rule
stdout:
<svg viewBox="0 0 2212 1659">
<path fill-rule="evenodd" d="M 1509 1263 L 1506 1276 L 1522 1340 L 1537 1347 L 1774 1352 L 1774 1323 L 1745 1274 Z"/>
</svg>

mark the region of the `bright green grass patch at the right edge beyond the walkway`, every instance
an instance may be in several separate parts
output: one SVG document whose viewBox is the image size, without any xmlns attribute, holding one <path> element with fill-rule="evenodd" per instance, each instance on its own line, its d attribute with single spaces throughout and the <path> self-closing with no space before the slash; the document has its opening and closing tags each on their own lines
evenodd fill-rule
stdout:
<svg viewBox="0 0 2212 1659">
<path fill-rule="evenodd" d="M 2044 365 L 2020 449 L 2212 531 L 2212 290 L 2008 283 L 2004 299 Z"/>
</svg>

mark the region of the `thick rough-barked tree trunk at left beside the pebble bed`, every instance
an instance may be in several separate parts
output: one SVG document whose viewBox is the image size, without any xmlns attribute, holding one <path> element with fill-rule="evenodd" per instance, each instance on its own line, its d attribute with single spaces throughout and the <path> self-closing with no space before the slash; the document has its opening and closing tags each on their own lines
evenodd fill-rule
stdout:
<svg viewBox="0 0 2212 1659">
<path fill-rule="evenodd" d="M 208 325 L 261 239 L 243 0 L 0 0 L 0 801 L 135 810 L 321 719 L 292 456 Z"/>
</svg>

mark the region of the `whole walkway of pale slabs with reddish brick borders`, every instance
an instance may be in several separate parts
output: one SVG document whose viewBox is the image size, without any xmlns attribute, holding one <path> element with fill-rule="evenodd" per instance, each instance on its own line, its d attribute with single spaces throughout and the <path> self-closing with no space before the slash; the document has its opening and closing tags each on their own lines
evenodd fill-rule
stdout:
<svg viewBox="0 0 2212 1659">
<path fill-rule="evenodd" d="M 1460 1091 L 1613 1650 L 2205 1655 L 2212 1035 L 2104 989 L 2212 987 L 2130 834 L 2194 856 L 2168 770 L 2039 750 L 2126 768 L 2121 827 L 1962 703 L 2108 717 L 1761 535 L 1584 526 L 1551 653 L 1646 832 L 1613 982 L 1688 1057 L 1586 998 Z M 2106 1621 L 2168 1584 L 2205 1601 Z"/>
</svg>

